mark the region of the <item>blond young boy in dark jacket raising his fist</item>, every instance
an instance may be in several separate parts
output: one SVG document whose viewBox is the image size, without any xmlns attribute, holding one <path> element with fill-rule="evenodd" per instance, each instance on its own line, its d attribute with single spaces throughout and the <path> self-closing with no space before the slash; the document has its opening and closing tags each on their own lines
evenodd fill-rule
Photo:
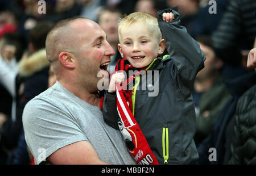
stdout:
<svg viewBox="0 0 256 176">
<path fill-rule="evenodd" d="M 143 12 L 130 14 L 119 23 L 118 32 L 118 49 L 127 63 L 122 66 L 119 62 L 118 70 L 123 68 L 127 74 L 130 70 L 145 70 L 145 74 L 157 70 L 159 74 L 157 77 L 151 72 L 157 78 L 151 81 L 151 86 L 146 83 L 146 90 L 137 89 L 145 83 L 143 74 L 138 74 L 133 90 L 125 93 L 128 102 L 131 96 L 131 111 L 156 160 L 159 164 L 195 164 L 196 116 L 191 90 L 205 60 L 199 44 L 180 26 L 179 14 L 173 9 L 159 11 L 158 19 Z M 170 56 L 158 57 L 166 46 Z M 123 81 L 123 73 L 114 74 L 104 96 L 105 122 L 116 129 L 120 120 L 115 85 Z M 158 89 L 157 96 L 148 96 L 150 87 Z M 126 136 L 126 140 L 129 137 L 133 139 Z M 139 156 L 138 153 L 136 159 Z"/>
</svg>

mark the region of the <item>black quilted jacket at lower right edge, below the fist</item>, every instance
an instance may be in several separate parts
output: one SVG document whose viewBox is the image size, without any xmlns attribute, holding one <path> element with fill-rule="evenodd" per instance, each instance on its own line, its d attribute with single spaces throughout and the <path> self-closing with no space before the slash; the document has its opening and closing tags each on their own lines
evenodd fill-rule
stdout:
<svg viewBox="0 0 256 176">
<path fill-rule="evenodd" d="M 256 85 L 238 100 L 229 164 L 256 164 Z"/>
</svg>

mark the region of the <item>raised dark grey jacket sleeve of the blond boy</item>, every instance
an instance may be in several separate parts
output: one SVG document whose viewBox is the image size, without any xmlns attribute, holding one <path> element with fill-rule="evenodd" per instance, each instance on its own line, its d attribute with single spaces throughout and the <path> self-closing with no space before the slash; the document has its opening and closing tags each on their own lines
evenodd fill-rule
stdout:
<svg viewBox="0 0 256 176">
<path fill-rule="evenodd" d="M 158 25 L 175 65 L 170 68 L 171 75 L 176 73 L 183 85 L 191 90 L 196 74 L 204 68 L 205 56 L 200 45 L 188 34 L 186 28 L 180 25 L 180 15 L 176 10 L 177 8 L 158 11 Z M 175 19 L 165 22 L 162 17 L 164 12 L 172 12 Z"/>
</svg>

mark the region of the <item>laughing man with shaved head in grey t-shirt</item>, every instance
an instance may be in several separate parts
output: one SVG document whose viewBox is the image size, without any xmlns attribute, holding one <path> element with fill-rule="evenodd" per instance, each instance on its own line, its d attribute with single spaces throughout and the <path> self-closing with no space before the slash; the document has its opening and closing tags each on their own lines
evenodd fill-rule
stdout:
<svg viewBox="0 0 256 176">
<path fill-rule="evenodd" d="M 64 19 L 48 33 L 46 52 L 57 81 L 23 112 L 35 164 L 135 164 L 100 109 L 97 83 L 108 79 L 115 53 L 106 33 L 90 19 Z"/>
</svg>

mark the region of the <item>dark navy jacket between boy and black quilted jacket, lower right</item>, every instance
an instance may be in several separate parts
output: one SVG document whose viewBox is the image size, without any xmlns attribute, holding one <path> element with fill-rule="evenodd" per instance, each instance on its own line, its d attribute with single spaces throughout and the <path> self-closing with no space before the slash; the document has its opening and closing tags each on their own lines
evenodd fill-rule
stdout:
<svg viewBox="0 0 256 176">
<path fill-rule="evenodd" d="M 240 77 L 226 82 L 232 98 L 226 102 L 220 115 L 218 115 L 210 135 L 197 148 L 199 152 L 199 161 L 197 164 L 228 164 L 231 145 L 231 140 L 229 139 L 232 139 L 232 129 L 234 128 L 234 125 L 230 125 L 230 123 L 232 123 L 238 99 L 255 83 L 256 73 L 254 72 L 246 72 Z M 210 148 L 216 149 L 216 161 L 209 161 L 208 157 L 210 153 L 208 150 Z"/>
</svg>

